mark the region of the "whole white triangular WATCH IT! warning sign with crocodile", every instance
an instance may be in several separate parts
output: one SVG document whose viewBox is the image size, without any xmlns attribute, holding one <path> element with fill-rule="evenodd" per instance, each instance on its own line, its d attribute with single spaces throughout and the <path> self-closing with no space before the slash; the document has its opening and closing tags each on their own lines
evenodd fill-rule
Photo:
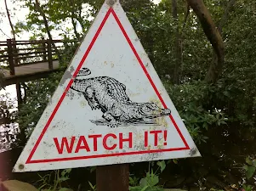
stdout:
<svg viewBox="0 0 256 191">
<path fill-rule="evenodd" d="M 200 156 L 120 3 L 104 3 L 14 166 Z"/>
</svg>

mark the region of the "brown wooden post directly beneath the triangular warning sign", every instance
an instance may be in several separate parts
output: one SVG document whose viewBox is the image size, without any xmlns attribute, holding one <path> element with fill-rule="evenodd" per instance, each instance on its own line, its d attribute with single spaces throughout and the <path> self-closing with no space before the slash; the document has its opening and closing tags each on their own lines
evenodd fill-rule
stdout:
<svg viewBox="0 0 256 191">
<path fill-rule="evenodd" d="M 97 166 L 97 191 L 128 191 L 129 165 Z"/>
</svg>

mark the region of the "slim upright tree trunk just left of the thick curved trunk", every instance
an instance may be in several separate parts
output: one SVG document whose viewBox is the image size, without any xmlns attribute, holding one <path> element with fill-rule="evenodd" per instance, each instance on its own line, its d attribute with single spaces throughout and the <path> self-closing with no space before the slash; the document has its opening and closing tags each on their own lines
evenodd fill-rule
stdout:
<svg viewBox="0 0 256 191">
<path fill-rule="evenodd" d="M 179 84 L 179 71 L 182 61 L 181 39 L 179 34 L 179 18 L 177 11 L 177 0 L 172 0 L 172 14 L 175 25 L 175 39 L 174 39 L 174 84 Z"/>
</svg>

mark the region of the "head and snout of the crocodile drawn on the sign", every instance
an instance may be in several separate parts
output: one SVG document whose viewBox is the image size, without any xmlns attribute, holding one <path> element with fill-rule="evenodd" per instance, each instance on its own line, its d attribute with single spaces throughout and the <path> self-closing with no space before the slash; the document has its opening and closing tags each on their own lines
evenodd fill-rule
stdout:
<svg viewBox="0 0 256 191">
<path fill-rule="evenodd" d="M 156 118 L 161 116 L 171 115 L 171 110 L 162 109 L 155 103 L 145 103 L 140 107 L 140 114 L 145 118 Z"/>
</svg>

